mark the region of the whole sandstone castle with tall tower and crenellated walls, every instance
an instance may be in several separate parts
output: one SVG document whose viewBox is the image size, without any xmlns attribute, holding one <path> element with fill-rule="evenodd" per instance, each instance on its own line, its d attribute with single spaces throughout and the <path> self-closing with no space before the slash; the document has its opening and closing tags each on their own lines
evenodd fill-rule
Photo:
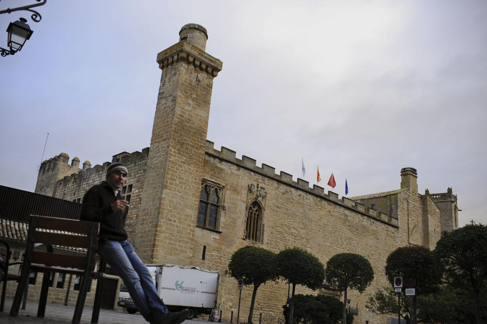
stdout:
<svg viewBox="0 0 487 324">
<path fill-rule="evenodd" d="M 324 188 L 280 172 L 206 140 L 213 79 L 222 62 L 205 52 L 206 29 L 183 26 L 180 42 L 157 55 L 162 70 L 150 148 L 122 152 L 111 162 L 91 166 L 69 163 L 61 153 L 44 161 L 36 193 L 80 202 L 105 177 L 107 167 L 123 162 L 129 173 L 122 195 L 130 201 L 126 221 L 129 240 L 146 263 L 177 263 L 218 270 L 218 304 L 223 320 L 236 314 L 236 280 L 228 274 L 232 253 L 254 244 L 279 252 L 299 246 L 322 263 L 337 253 L 366 257 L 375 279 L 365 294 L 349 293 L 358 306 L 357 322 L 384 322 L 368 312 L 366 296 L 389 283 L 387 256 L 415 244 L 430 249 L 444 231 L 458 228 L 457 197 L 418 193 L 414 168 L 401 170 L 397 190 L 339 199 Z M 120 285 L 120 283 L 119 283 Z M 298 286 L 296 293 L 312 293 Z M 252 289 L 244 287 L 240 318 L 248 314 Z M 257 292 L 254 321 L 283 317 L 288 285 L 268 283 Z M 234 319 L 235 320 L 235 319 Z"/>
</svg>

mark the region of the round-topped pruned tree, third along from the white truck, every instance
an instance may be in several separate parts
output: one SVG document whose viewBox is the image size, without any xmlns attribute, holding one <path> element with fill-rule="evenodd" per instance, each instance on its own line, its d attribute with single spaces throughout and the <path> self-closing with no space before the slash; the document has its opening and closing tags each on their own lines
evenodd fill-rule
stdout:
<svg viewBox="0 0 487 324">
<path fill-rule="evenodd" d="M 326 263 L 325 278 L 343 292 L 343 323 L 346 323 L 347 289 L 363 293 L 374 280 L 374 270 L 369 260 L 355 253 L 339 253 Z"/>
</svg>

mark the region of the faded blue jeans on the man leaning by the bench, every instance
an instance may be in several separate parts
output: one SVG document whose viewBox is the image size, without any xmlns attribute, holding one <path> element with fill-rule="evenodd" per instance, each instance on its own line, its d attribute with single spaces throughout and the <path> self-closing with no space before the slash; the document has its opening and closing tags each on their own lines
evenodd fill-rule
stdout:
<svg viewBox="0 0 487 324">
<path fill-rule="evenodd" d="M 167 307 L 157 294 L 149 270 L 129 241 L 100 240 L 98 254 L 122 278 L 133 303 L 147 321 L 151 322 L 167 313 Z"/>
</svg>

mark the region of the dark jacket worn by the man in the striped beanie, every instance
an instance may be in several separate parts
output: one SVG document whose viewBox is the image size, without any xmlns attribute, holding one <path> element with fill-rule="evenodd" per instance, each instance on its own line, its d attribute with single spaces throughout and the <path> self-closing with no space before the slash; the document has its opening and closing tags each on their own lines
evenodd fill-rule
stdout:
<svg viewBox="0 0 487 324">
<path fill-rule="evenodd" d="M 123 241 L 127 239 L 125 232 L 125 210 L 113 211 L 111 204 L 122 199 L 120 193 L 115 197 L 110 184 L 103 181 L 90 188 L 81 203 L 81 220 L 100 223 L 100 239 Z"/>
</svg>

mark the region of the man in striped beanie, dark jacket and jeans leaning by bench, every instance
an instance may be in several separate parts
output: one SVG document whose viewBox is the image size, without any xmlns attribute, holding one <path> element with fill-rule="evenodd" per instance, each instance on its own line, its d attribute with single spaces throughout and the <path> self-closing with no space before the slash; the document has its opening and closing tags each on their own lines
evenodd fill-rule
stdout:
<svg viewBox="0 0 487 324">
<path fill-rule="evenodd" d="M 127 167 L 123 163 L 111 164 L 106 181 L 91 187 L 83 197 L 81 220 L 100 223 L 98 254 L 122 278 L 142 316 L 151 324 L 179 324 L 188 317 L 188 310 L 168 311 L 149 270 L 127 240 L 124 227 L 128 201 L 119 193 L 126 176 Z"/>
</svg>

